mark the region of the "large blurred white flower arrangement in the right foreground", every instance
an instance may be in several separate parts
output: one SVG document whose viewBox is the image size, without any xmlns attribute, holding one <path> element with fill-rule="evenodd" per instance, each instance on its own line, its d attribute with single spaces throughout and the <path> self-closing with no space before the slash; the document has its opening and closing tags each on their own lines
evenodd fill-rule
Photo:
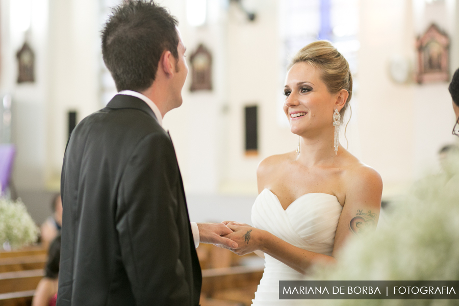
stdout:
<svg viewBox="0 0 459 306">
<path fill-rule="evenodd" d="M 459 160 L 459 159 L 458 159 Z M 459 167 L 455 166 L 455 169 Z M 459 171 L 455 171 L 459 173 Z M 459 279 L 459 174 L 431 175 L 392 205 L 388 224 L 350 239 L 335 267 L 318 279 L 456 281 Z M 457 300 L 326 300 L 324 305 L 457 305 Z"/>
</svg>

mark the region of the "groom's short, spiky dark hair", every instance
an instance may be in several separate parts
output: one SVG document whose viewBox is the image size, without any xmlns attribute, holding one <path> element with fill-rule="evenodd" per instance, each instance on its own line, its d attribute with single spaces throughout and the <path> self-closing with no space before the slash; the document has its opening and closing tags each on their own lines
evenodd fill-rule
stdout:
<svg viewBox="0 0 459 306">
<path fill-rule="evenodd" d="M 150 87 L 165 50 L 179 59 L 177 24 L 152 0 L 125 1 L 114 8 L 102 30 L 102 56 L 118 91 Z"/>
</svg>

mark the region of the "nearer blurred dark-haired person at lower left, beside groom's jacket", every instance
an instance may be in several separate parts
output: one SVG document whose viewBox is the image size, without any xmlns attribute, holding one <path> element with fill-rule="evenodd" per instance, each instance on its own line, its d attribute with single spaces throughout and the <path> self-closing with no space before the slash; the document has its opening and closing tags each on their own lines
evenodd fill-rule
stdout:
<svg viewBox="0 0 459 306">
<path fill-rule="evenodd" d="M 32 306 L 55 306 L 58 291 L 59 260 L 61 258 L 61 236 L 49 245 L 45 276 L 38 283 Z"/>
</svg>

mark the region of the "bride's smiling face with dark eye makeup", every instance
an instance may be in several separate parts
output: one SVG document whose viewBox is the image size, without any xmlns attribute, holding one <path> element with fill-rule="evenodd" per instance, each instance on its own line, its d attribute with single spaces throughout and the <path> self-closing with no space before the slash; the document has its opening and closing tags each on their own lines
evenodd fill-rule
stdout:
<svg viewBox="0 0 459 306">
<path fill-rule="evenodd" d="M 320 73 L 319 69 L 304 62 L 294 64 L 287 73 L 284 112 L 294 134 L 333 129 L 336 95 L 328 92 Z"/>
</svg>

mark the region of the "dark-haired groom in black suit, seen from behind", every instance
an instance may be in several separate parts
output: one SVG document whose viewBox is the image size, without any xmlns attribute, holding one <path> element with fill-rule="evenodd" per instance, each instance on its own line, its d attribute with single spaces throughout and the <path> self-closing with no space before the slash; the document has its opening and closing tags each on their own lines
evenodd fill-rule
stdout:
<svg viewBox="0 0 459 306">
<path fill-rule="evenodd" d="M 61 176 L 58 306 L 197 305 L 200 242 L 237 244 L 221 223 L 191 223 L 164 115 L 188 67 L 177 21 L 154 2 L 116 8 L 102 35 L 119 93 L 75 127 Z M 194 231 L 193 231 L 194 228 Z"/>
</svg>

